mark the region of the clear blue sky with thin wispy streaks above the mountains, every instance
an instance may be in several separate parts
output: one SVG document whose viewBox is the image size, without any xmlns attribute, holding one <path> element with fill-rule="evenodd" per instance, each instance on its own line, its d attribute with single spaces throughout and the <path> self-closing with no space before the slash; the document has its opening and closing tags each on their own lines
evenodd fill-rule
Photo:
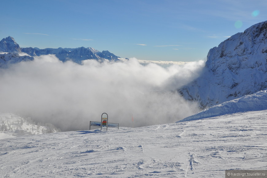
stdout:
<svg viewBox="0 0 267 178">
<path fill-rule="evenodd" d="M 266 0 L 2 0 L 0 38 L 21 47 L 109 50 L 141 60 L 197 61 L 267 20 Z"/>
</svg>

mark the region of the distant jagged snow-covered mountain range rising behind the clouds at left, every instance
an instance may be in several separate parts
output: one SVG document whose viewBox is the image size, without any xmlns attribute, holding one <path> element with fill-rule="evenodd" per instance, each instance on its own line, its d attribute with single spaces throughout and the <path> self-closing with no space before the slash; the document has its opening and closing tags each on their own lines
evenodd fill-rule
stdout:
<svg viewBox="0 0 267 178">
<path fill-rule="evenodd" d="M 3 38 L 0 41 L 0 52 L 7 53 L 27 53 L 28 55 L 41 56 L 47 54 L 54 54 L 60 61 L 72 60 L 78 64 L 81 64 L 81 61 L 87 59 L 95 59 L 99 62 L 107 61 L 120 61 L 122 58 L 110 53 L 109 51 L 98 51 L 94 48 L 88 47 L 79 47 L 79 48 L 21 48 L 12 37 Z"/>
</svg>

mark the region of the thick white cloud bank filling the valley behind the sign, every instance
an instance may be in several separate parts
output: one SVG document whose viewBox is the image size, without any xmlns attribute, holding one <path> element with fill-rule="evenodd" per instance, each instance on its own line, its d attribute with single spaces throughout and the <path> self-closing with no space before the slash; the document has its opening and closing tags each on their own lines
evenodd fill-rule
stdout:
<svg viewBox="0 0 267 178">
<path fill-rule="evenodd" d="M 104 112 L 120 126 L 176 122 L 198 110 L 171 91 L 198 77 L 203 65 L 141 65 L 134 58 L 78 65 L 53 55 L 35 57 L 0 69 L 0 111 L 49 122 L 62 131 L 88 129 L 89 121 L 100 121 Z"/>
</svg>

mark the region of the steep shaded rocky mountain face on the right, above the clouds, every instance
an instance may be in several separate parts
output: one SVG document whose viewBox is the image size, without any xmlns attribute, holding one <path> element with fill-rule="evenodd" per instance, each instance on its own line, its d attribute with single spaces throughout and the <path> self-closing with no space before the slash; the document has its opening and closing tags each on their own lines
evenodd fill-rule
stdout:
<svg viewBox="0 0 267 178">
<path fill-rule="evenodd" d="M 202 75 L 178 89 L 206 108 L 267 89 L 267 21 L 210 49 Z"/>
</svg>

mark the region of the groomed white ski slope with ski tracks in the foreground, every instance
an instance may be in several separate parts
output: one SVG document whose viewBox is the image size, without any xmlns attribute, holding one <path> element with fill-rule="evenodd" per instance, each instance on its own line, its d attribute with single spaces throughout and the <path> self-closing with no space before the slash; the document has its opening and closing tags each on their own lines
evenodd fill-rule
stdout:
<svg viewBox="0 0 267 178">
<path fill-rule="evenodd" d="M 225 177 L 267 170 L 267 110 L 1 140 L 1 177 Z"/>
</svg>

